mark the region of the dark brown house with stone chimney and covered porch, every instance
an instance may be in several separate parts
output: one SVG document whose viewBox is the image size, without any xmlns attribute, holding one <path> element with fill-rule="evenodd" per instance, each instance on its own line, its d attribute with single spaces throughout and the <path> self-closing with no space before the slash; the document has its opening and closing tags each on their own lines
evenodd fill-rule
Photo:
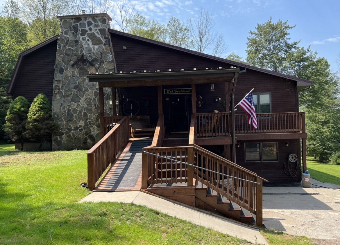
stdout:
<svg viewBox="0 0 340 245">
<path fill-rule="evenodd" d="M 306 133 L 298 97 L 310 81 L 115 31 L 107 14 L 58 18 L 60 35 L 19 55 L 7 90 L 31 102 L 40 92 L 47 95 L 60 128 L 52 150 L 78 147 L 77 137 L 91 147 L 108 137 L 111 123 L 125 128 L 119 137 L 126 142 L 128 117 L 148 116 L 157 125 L 154 147 L 171 145 L 168 137 L 177 135 L 176 147 L 195 144 L 255 179 L 301 181 Z M 252 89 L 257 129 L 239 106 L 234 110 Z M 192 161 L 207 166 L 208 157 L 198 155 Z M 96 176 L 104 171 L 94 168 Z"/>
</svg>

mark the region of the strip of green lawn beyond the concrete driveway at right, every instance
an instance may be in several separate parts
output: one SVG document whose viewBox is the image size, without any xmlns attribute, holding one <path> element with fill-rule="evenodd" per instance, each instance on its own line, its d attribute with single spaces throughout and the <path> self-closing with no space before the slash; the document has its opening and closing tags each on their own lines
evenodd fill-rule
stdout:
<svg viewBox="0 0 340 245">
<path fill-rule="evenodd" d="M 328 165 L 307 157 L 307 170 L 313 179 L 340 185 L 340 165 Z"/>
</svg>

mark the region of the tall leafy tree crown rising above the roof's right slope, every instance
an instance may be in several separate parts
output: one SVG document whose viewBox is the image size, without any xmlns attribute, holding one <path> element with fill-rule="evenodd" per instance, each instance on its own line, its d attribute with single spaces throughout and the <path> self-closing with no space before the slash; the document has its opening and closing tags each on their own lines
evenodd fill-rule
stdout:
<svg viewBox="0 0 340 245">
<path fill-rule="evenodd" d="M 266 23 L 257 24 L 256 31 L 249 32 L 246 61 L 260 68 L 280 72 L 287 55 L 300 42 L 290 42 L 288 31 L 294 27 L 288 24 L 288 20 L 273 23 L 271 17 Z"/>
</svg>

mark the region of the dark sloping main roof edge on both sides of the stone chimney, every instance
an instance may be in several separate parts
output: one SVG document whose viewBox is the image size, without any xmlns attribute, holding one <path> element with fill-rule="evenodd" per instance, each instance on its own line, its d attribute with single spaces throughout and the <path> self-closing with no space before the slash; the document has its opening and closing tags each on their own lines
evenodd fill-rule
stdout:
<svg viewBox="0 0 340 245">
<path fill-rule="evenodd" d="M 251 65 L 248 65 L 248 64 L 244 64 L 244 63 L 240 63 L 240 62 L 235 62 L 233 60 L 228 60 L 228 59 L 216 57 L 216 56 L 205 54 L 205 53 L 200 53 L 200 52 L 193 51 L 193 50 L 190 50 L 190 49 L 185 49 L 185 48 L 177 47 L 177 46 L 174 46 L 174 45 L 170 45 L 168 43 L 159 42 L 159 41 L 151 40 L 151 39 L 144 38 L 144 37 L 139 37 L 139 36 L 136 36 L 136 35 L 132 35 L 132 34 L 125 33 L 125 32 L 120 32 L 120 31 L 116 31 L 116 30 L 113 30 L 113 29 L 109 29 L 108 31 L 112 35 L 119 35 L 119 36 L 123 36 L 123 37 L 128 37 L 128 38 L 131 38 L 131 39 L 134 39 L 134 40 L 139 40 L 139 41 L 142 41 L 142 42 L 150 43 L 152 45 L 157 45 L 157 46 L 160 46 L 160 47 L 164 47 L 164 48 L 168 48 L 168 49 L 172 49 L 172 50 L 177 50 L 177 51 L 188 53 L 188 54 L 192 54 L 192 55 L 197 55 L 197 56 L 208 58 L 208 59 L 211 59 L 211 60 L 216 60 L 218 62 L 223 62 L 225 64 L 232 65 L 232 67 L 240 68 L 241 69 L 240 73 L 245 72 L 246 69 L 251 69 L 251 70 L 254 70 L 254 71 L 258 71 L 258 72 L 270 74 L 270 75 L 273 75 L 273 76 L 278 76 L 278 77 L 281 77 L 281 78 L 285 78 L 285 80 L 296 81 L 297 82 L 297 86 L 298 86 L 299 89 L 302 89 L 302 88 L 305 88 L 305 87 L 309 87 L 309 86 L 312 85 L 311 81 L 308 81 L 308 80 L 305 80 L 305 79 L 302 79 L 302 78 L 299 78 L 299 77 L 285 75 L 285 74 L 282 74 L 282 73 L 279 73 L 279 72 L 275 72 L 275 71 L 270 71 L 270 70 L 258 68 L 258 67 L 251 66 Z M 46 40 L 44 42 L 41 42 L 38 45 L 36 45 L 36 46 L 26 50 L 26 51 L 23 51 L 22 53 L 19 54 L 19 57 L 18 57 L 18 60 L 17 60 L 17 64 L 15 66 L 14 72 L 13 72 L 12 77 L 11 77 L 10 84 L 7 87 L 7 93 L 8 94 L 12 94 L 12 90 L 14 89 L 15 80 L 16 80 L 17 74 L 18 74 L 18 72 L 20 70 L 20 65 L 21 65 L 23 57 L 28 55 L 28 54 L 30 54 L 30 53 L 32 53 L 32 52 L 34 52 L 34 51 L 36 51 L 36 50 L 38 50 L 41 47 L 44 47 L 44 46 L 48 45 L 49 43 L 57 40 L 58 37 L 59 37 L 59 35 L 56 35 L 56 36 L 54 36 L 54 37 L 52 37 L 52 38 L 50 38 L 50 39 L 48 39 L 48 40 Z"/>
</svg>

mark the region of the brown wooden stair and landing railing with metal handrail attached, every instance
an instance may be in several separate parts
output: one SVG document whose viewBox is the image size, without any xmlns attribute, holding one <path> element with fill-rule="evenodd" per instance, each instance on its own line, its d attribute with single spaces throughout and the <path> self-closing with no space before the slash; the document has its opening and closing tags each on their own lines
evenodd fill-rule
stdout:
<svg viewBox="0 0 340 245">
<path fill-rule="evenodd" d="M 209 187 L 256 214 L 256 225 L 262 225 L 262 181 L 265 179 L 256 173 L 198 145 L 145 147 L 143 151 L 151 154 L 143 154 L 142 189 L 157 183 L 186 182 L 188 186 L 192 186 L 192 180 L 195 178 L 202 187 Z M 207 170 L 191 167 L 185 163 Z"/>
</svg>

